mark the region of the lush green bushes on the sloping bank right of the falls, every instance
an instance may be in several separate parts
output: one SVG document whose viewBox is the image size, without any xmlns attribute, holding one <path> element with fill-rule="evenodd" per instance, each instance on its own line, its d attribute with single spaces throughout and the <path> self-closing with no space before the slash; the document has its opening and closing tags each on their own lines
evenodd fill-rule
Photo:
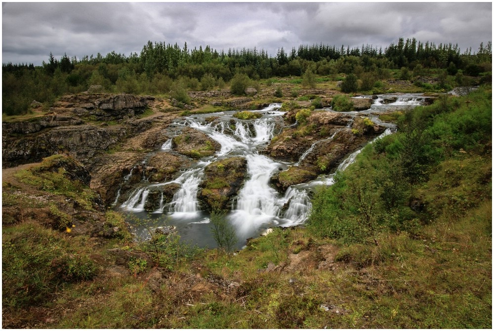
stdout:
<svg viewBox="0 0 494 331">
<path fill-rule="evenodd" d="M 400 117 L 397 133 L 368 145 L 316 193 L 311 231 L 344 242 L 414 233 L 443 212 L 461 214 L 490 199 L 491 95 L 442 97 Z"/>
</svg>

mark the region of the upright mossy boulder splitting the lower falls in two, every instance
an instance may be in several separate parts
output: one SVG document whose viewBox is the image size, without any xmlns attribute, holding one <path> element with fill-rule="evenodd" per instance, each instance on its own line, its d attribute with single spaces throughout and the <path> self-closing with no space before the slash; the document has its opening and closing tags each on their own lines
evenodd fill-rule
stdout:
<svg viewBox="0 0 494 331">
<path fill-rule="evenodd" d="M 206 210 L 231 209 L 232 199 L 244 183 L 247 160 L 242 157 L 219 160 L 206 166 L 205 180 L 200 185 L 199 200 Z"/>
</svg>

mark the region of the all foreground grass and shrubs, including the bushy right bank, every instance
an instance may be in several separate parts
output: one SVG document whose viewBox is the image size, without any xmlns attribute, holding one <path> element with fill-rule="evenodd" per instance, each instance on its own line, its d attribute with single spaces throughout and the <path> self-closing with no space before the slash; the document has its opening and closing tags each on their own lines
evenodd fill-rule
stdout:
<svg viewBox="0 0 494 331">
<path fill-rule="evenodd" d="M 133 242 L 69 157 L 4 176 L 2 327 L 491 328 L 491 87 L 394 115 L 305 227 L 235 254 Z"/>
</svg>

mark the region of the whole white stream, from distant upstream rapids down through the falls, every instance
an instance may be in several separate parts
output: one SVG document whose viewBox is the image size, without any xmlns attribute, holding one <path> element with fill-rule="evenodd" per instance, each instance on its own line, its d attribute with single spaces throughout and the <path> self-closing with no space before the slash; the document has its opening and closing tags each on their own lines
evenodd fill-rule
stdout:
<svg viewBox="0 0 494 331">
<path fill-rule="evenodd" d="M 422 104 L 424 99 L 419 94 L 407 94 L 396 98 L 393 102 L 389 102 L 389 98 L 388 102 L 385 102 L 386 97 L 386 95 L 378 96 L 369 110 L 344 114 L 353 117 L 364 114 L 369 116 L 374 123 L 385 126 L 385 132 L 375 138 L 379 139 L 394 132 L 395 125 L 380 122 L 376 113 L 410 108 Z M 278 193 L 270 186 L 270 178 L 279 169 L 298 165 L 317 143 L 332 139 L 332 137 L 316 141 L 297 163 L 278 162 L 260 154 L 259 151 L 266 147 L 275 135 L 276 120 L 284 114 L 279 111 L 280 108 L 281 104 L 271 104 L 265 109 L 258 110 L 256 112 L 261 113 L 262 117 L 254 121 L 234 119 L 232 114 L 236 112 L 230 111 L 193 115 L 180 118 L 170 124 L 178 131 L 186 126 L 195 128 L 217 141 L 221 149 L 213 156 L 202 158 L 171 181 L 150 183 L 144 176 L 128 199 L 117 205 L 121 211 L 132 216 L 127 221 L 131 224 L 135 235 L 146 238 L 149 236 L 149 228 L 172 225 L 176 227 L 182 241 L 199 247 L 216 247 L 210 230 L 209 213 L 201 210 L 197 194 L 204 178 L 205 167 L 216 160 L 234 156 L 242 156 L 247 160 L 246 181 L 235 198 L 234 207 L 226 215 L 237 233 L 236 248 L 244 247 L 248 238 L 258 237 L 270 227 L 289 227 L 303 223 L 311 209 L 309 192 L 318 185 L 331 185 L 334 182 L 334 174 L 321 175 L 311 182 L 293 185 L 287 189 L 285 194 Z M 330 108 L 323 110 L 332 111 Z M 211 115 L 220 117 L 220 120 L 207 123 L 205 118 Z M 235 130 L 231 127 L 232 119 L 235 120 Z M 230 129 L 226 130 L 226 126 L 230 126 Z M 171 147 L 171 139 L 169 139 L 163 144 L 161 151 L 172 152 Z M 338 170 L 344 170 L 353 163 L 360 151 L 355 151 L 343 160 Z M 144 205 L 150 189 L 170 183 L 180 185 L 171 203 L 162 202 L 154 212 L 145 211 Z M 115 201 L 116 204 L 119 196 Z"/>
</svg>

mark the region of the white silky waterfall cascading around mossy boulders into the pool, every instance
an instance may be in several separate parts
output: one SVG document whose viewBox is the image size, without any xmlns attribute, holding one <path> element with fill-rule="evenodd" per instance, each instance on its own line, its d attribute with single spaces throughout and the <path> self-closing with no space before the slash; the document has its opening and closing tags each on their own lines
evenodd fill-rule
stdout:
<svg viewBox="0 0 494 331">
<path fill-rule="evenodd" d="M 382 99 L 381 99 L 382 100 Z M 413 100 L 398 100 L 397 102 L 412 102 Z M 375 105 L 380 104 L 377 100 Z M 293 185 L 286 192 L 277 192 L 270 185 L 273 173 L 280 167 L 285 167 L 286 163 L 278 163 L 268 156 L 259 154 L 258 148 L 263 146 L 273 138 L 275 132 L 275 116 L 280 116 L 278 112 L 281 105 L 271 105 L 263 110 L 255 111 L 262 113 L 262 117 L 254 121 L 243 121 L 233 119 L 232 112 L 225 112 L 223 115 L 216 114 L 219 118 L 213 122 L 204 120 L 207 116 L 195 115 L 185 119 L 177 120 L 173 123 L 180 131 L 181 128 L 189 126 L 206 134 L 209 138 L 217 141 L 221 148 L 212 157 L 203 158 L 192 168 L 183 171 L 180 176 L 174 180 L 150 184 L 146 180 L 145 162 L 134 166 L 130 173 L 124 176 L 124 181 L 129 181 L 131 177 L 135 178 L 134 169 L 143 168 L 142 181 L 133 192 L 131 192 L 127 201 L 121 207 L 124 210 L 139 213 L 144 210 L 146 200 L 150 192 L 156 192 L 156 187 L 170 183 L 179 184 L 172 201 L 165 204 L 164 194 L 161 195 L 159 207 L 154 213 L 165 213 L 166 222 L 177 226 L 180 235 L 184 240 L 192 240 L 202 247 L 214 247 L 214 241 L 210 235 L 209 214 L 207 211 L 201 211 L 198 201 L 199 185 L 203 180 L 205 168 L 215 160 L 222 158 L 241 156 L 247 160 L 247 177 L 238 194 L 232 198 L 232 208 L 226 214 L 227 219 L 235 226 L 240 244 L 242 241 L 259 235 L 264 229 L 273 226 L 292 226 L 303 223 L 310 212 L 311 203 L 308 191 L 317 184 L 330 185 L 334 183 L 334 174 L 320 176 L 317 180 L 310 183 Z M 385 107 L 384 105 L 382 106 Z M 269 112 L 269 113 L 268 113 Z M 233 125 L 232 125 L 233 124 Z M 351 127 L 352 121 L 348 126 Z M 335 132 L 336 133 L 336 132 Z M 379 139 L 391 130 L 387 129 L 376 139 Z M 320 142 L 332 139 L 335 134 L 329 138 L 315 141 L 299 158 L 295 165 L 314 153 L 316 145 Z M 375 141 L 375 139 L 374 139 Z M 161 146 L 161 150 L 171 149 L 172 139 L 166 140 Z M 356 156 L 361 150 L 355 151 L 349 155 L 338 170 L 344 170 L 348 165 L 355 162 Z M 149 175 L 149 174 L 147 174 Z M 159 196 L 154 195 L 155 199 Z M 117 193 L 115 203 L 118 204 L 120 191 Z M 156 205 L 158 201 L 156 201 Z M 141 216 L 139 216 L 141 217 Z M 137 226 L 137 225 L 136 225 Z"/>
</svg>

